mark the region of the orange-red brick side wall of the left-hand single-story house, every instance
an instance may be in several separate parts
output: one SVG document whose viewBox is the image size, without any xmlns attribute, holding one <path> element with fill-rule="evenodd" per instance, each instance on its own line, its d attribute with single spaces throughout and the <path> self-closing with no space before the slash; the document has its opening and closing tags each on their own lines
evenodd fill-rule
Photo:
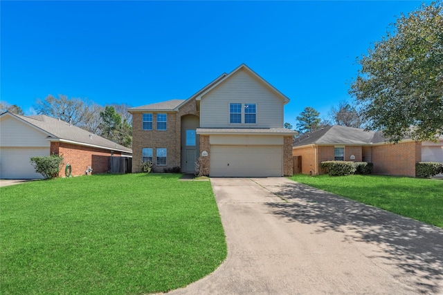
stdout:
<svg viewBox="0 0 443 295">
<path fill-rule="evenodd" d="M 87 166 L 91 166 L 94 174 L 106 173 L 109 171 L 109 156 L 111 151 L 106 149 L 93 148 L 91 146 L 81 146 L 78 144 L 67 144 L 65 142 L 51 142 L 52 153 L 63 155 L 63 166 L 60 170 L 60 177 L 65 176 L 65 167 L 71 164 L 71 176 L 85 175 Z M 115 151 L 114 156 L 119 157 L 120 152 Z"/>
</svg>

